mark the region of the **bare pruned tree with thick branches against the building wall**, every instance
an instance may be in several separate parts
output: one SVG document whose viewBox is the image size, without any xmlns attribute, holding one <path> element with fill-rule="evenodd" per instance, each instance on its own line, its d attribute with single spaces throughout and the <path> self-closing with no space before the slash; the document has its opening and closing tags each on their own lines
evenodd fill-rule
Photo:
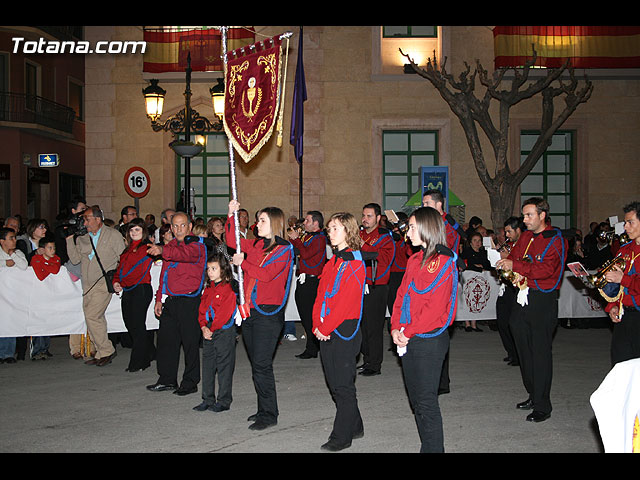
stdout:
<svg viewBox="0 0 640 480">
<path fill-rule="evenodd" d="M 400 53 L 409 60 L 416 73 L 431 82 L 460 120 L 476 171 L 482 185 L 489 193 L 493 227 L 494 229 L 501 227 L 504 221 L 513 214 L 520 183 L 551 144 L 553 134 L 571 116 L 579 104 L 590 98 L 593 84 L 585 76 L 584 85 L 582 88 L 578 88 L 579 82 L 576 80 L 573 68 L 570 67 L 569 60 L 560 68 L 546 69 L 544 75 L 529 78 L 537 59 L 535 48 L 531 60 L 523 67 L 501 68 L 496 70 L 491 77 L 479 60 L 476 60 L 473 72 L 465 62 L 466 68 L 460 73 L 458 79 L 447 73 L 445 69 L 446 57 L 442 66 L 438 66 L 435 52 L 434 60 L 427 59 L 426 68 L 418 66 L 402 50 Z M 513 77 L 509 77 L 510 84 L 505 78 L 508 71 L 513 71 Z M 539 72 L 541 70 L 536 69 L 536 73 Z M 480 84 L 485 87 L 482 98 L 476 96 L 476 76 Z M 506 88 L 501 89 L 503 80 L 507 85 Z M 554 87 L 554 84 L 557 86 Z M 524 162 L 517 169 L 512 170 L 508 162 L 510 109 L 538 94 L 542 97 L 540 135 Z M 560 96 L 564 96 L 564 108 L 554 117 L 556 114 L 554 100 Z M 492 100 L 499 102 L 497 124 L 489 112 Z M 487 169 L 477 126 L 485 133 L 493 149 L 496 161 L 493 176 Z"/>
</svg>

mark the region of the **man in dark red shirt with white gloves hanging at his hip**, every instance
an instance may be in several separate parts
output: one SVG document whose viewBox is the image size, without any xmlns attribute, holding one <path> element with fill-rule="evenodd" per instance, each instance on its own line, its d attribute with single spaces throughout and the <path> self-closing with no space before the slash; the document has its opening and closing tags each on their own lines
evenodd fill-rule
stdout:
<svg viewBox="0 0 640 480">
<path fill-rule="evenodd" d="M 542 422 L 551 416 L 551 343 L 558 324 L 558 292 L 562 283 L 566 240 L 551 227 L 549 204 L 540 197 L 525 200 L 522 206 L 522 233 L 507 258 L 496 268 L 517 273 L 518 295 L 509 326 L 520 360 L 520 371 L 529 398 L 516 408 L 533 410 L 527 421 Z"/>
</svg>

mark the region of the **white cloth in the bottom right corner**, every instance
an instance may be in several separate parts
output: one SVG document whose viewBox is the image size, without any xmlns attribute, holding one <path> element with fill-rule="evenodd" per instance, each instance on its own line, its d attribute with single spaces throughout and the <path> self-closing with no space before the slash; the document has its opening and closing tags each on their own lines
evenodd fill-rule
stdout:
<svg viewBox="0 0 640 480">
<path fill-rule="evenodd" d="M 590 400 L 605 453 L 632 453 L 640 415 L 640 358 L 616 363 Z"/>
</svg>

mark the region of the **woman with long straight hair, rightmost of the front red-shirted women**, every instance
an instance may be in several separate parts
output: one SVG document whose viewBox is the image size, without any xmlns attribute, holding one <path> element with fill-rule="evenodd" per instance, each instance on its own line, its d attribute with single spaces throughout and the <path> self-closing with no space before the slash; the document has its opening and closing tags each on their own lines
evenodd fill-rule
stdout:
<svg viewBox="0 0 640 480">
<path fill-rule="evenodd" d="M 456 314 L 457 255 L 446 245 L 442 216 L 431 207 L 409 217 L 409 239 L 421 251 L 407 262 L 391 315 L 391 337 L 399 347 L 421 452 L 444 452 L 438 385 L 449 350 L 447 327 Z"/>
</svg>

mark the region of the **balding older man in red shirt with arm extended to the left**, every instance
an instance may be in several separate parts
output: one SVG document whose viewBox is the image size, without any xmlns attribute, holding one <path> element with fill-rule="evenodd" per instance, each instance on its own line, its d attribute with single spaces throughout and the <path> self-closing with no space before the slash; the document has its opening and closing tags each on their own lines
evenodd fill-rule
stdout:
<svg viewBox="0 0 640 480">
<path fill-rule="evenodd" d="M 162 256 L 162 270 L 154 311 L 160 318 L 156 363 L 158 381 L 151 391 L 174 390 L 177 395 L 198 391 L 200 382 L 200 325 L 198 309 L 204 286 L 207 251 L 199 238 L 191 235 L 192 223 L 186 213 L 171 217 L 173 240 L 152 245 L 150 256 Z M 178 388 L 180 346 L 184 351 L 184 372 Z"/>
</svg>

